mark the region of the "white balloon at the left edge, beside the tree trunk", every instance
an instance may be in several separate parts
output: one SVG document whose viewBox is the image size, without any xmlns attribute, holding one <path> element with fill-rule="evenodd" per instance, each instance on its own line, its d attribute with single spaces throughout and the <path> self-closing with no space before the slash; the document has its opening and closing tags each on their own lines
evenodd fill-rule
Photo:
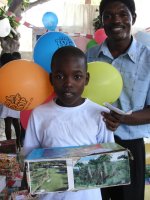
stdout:
<svg viewBox="0 0 150 200">
<path fill-rule="evenodd" d="M 0 37 L 6 37 L 11 31 L 11 26 L 8 18 L 0 20 Z"/>
</svg>

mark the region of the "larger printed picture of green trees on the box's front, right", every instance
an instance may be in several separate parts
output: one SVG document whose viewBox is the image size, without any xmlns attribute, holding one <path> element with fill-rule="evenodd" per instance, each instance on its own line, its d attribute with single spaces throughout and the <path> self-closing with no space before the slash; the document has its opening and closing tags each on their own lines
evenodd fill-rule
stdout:
<svg viewBox="0 0 150 200">
<path fill-rule="evenodd" d="M 125 152 L 86 156 L 74 166 L 75 189 L 130 183 L 129 160 Z"/>
</svg>

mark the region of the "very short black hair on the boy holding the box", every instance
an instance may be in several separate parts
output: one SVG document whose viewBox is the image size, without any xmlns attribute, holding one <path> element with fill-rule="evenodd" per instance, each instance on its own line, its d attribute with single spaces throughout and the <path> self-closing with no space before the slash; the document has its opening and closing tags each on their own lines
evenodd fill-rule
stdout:
<svg viewBox="0 0 150 200">
<path fill-rule="evenodd" d="M 52 56 L 51 69 L 59 62 L 62 62 L 64 57 L 83 58 L 85 63 L 85 70 L 87 71 L 87 58 L 83 51 L 74 46 L 65 46 L 59 48 Z"/>
</svg>

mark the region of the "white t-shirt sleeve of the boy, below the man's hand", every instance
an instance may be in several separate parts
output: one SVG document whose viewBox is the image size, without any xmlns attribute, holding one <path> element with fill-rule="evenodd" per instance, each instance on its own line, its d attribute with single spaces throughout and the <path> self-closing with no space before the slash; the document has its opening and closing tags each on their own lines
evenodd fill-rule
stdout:
<svg viewBox="0 0 150 200">
<path fill-rule="evenodd" d="M 100 115 L 99 132 L 97 134 L 97 143 L 109 143 L 114 141 L 114 133 L 107 129 L 102 116 Z"/>
</svg>

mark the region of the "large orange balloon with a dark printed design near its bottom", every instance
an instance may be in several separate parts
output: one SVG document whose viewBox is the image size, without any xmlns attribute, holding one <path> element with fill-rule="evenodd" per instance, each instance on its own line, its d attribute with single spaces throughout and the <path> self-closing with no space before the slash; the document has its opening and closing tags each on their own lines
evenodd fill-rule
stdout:
<svg viewBox="0 0 150 200">
<path fill-rule="evenodd" d="M 52 93 L 48 73 L 32 61 L 14 60 L 0 69 L 0 102 L 9 108 L 33 109 Z"/>
</svg>

